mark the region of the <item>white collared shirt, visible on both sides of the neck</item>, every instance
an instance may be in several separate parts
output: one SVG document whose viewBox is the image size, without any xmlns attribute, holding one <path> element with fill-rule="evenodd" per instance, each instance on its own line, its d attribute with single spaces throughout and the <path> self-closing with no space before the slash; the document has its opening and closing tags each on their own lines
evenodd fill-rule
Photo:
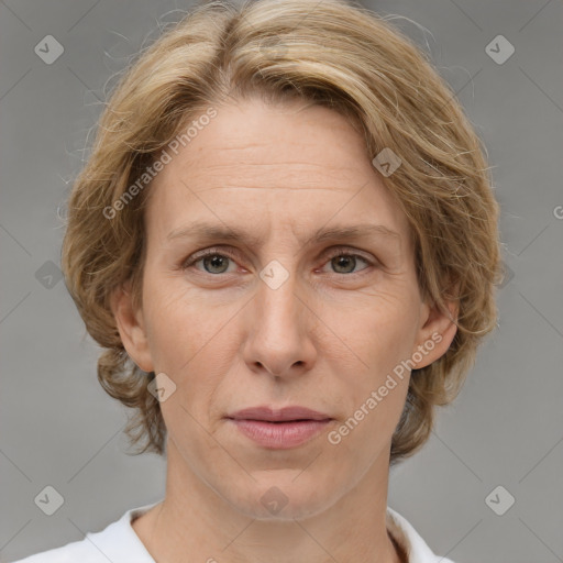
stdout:
<svg viewBox="0 0 563 563">
<path fill-rule="evenodd" d="M 157 504 L 132 508 L 102 531 L 88 532 L 81 541 L 43 551 L 13 563 L 155 563 L 133 530 L 131 521 Z M 453 563 L 449 559 L 434 555 L 415 528 L 388 507 L 387 529 L 408 553 L 409 563 Z"/>
</svg>

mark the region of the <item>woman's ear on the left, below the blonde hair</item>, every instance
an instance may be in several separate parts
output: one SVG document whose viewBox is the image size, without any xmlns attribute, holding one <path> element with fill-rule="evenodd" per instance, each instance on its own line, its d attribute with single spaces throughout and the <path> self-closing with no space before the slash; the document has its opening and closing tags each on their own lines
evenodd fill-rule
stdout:
<svg viewBox="0 0 563 563">
<path fill-rule="evenodd" d="M 114 290 L 110 298 L 123 346 L 133 362 L 144 372 L 153 372 L 153 361 L 141 308 L 135 310 L 129 282 Z"/>
</svg>

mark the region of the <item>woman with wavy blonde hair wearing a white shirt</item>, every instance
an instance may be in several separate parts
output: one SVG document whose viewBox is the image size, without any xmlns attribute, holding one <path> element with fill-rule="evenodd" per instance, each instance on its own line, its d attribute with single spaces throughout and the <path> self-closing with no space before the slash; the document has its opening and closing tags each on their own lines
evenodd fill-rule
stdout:
<svg viewBox="0 0 563 563">
<path fill-rule="evenodd" d="M 495 325 L 498 206 L 416 47 L 339 0 L 201 4 L 68 208 L 67 287 L 166 494 L 22 561 L 449 561 L 388 475 Z"/>
</svg>

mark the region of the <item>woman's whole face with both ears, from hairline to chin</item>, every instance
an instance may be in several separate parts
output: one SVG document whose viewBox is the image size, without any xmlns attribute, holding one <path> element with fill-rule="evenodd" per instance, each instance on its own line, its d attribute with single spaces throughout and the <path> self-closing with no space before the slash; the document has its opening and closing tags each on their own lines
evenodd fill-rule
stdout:
<svg viewBox="0 0 563 563">
<path fill-rule="evenodd" d="M 386 475 L 408 368 L 454 331 L 421 299 L 361 135 L 320 107 L 218 107 L 150 189 L 142 307 L 122 294 L 114 312 L 131 357 L 175 389 L 174 463 L 255 518 L 276 517 L 269 499 L 278 518 L 319 514 Z M 280 415 L 294 422 L 265 420 Z"/>
</svg>

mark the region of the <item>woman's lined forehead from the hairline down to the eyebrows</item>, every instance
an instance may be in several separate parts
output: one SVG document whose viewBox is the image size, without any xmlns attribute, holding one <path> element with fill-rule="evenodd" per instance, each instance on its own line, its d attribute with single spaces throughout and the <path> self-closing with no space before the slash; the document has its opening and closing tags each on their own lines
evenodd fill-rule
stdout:
<svg viewBox="0 0 563 563">
<path fill-rule="evenodd" d="M 194 219 L 258 231 L 287 224 L 303 236 L 329 221 L 408 231 L 364 139 L 343 115 L 301 101 L 216 109 L 177 154 L 169 152 L 150 188 L 147 223 L 158 236 Z"/>
</svg>

